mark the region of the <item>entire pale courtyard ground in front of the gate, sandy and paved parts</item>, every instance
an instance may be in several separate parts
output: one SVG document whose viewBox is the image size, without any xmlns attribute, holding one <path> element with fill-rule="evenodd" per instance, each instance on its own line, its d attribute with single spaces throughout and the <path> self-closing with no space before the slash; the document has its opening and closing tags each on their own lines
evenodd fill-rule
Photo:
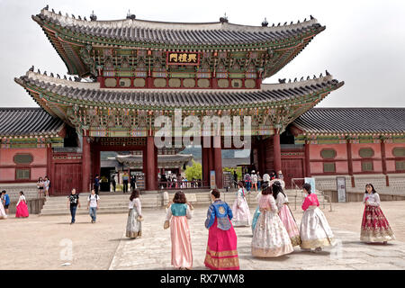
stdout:
<svg viewBox="0 0 405 288">
<path fill-rule="evenodd" d="M 238 234 L 240 268 L 249 269 L 404 269 L 405 202 L 383 202 L 396 240 L 383 244 L 359 241 L 363 205 L 334 203 L 325 212 L 338 240 L 319 254 L 302 252 L 258 259 L 251 256 L 250 227 L 235 228 Z M 204 228 L 207 207 L 196 207 L 190 220 L 193 269 L 203 266 L 208 230 Z M 253 215 L 255 208 L 251 207 Z M 302 211 L 293 211 L 301 222 Z M 170 231 L 163 229 L 165 211 L 144 211 L 142 237 L 125 238 L 127 214 L 102 214 L 91 224 L 88 215 L 78 215 L 69 225 L 67 216 L 31 215 L 29 219 L 0 220 L 2 255 L 0 269 L 173 269 L 170 265 Z"/>
</svg>

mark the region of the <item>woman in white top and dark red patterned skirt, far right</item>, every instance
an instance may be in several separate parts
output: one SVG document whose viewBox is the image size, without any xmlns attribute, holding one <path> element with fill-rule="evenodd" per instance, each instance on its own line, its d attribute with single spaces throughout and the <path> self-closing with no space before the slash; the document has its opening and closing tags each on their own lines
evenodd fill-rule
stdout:
<svg viewBox="0 0 405 288">
<path fill-rule="evenodd" d="M 365 211 L 363 213 L 360 240 L 364 242 L 383 242 L 395 239 L 390 223 L 380 208 L 380 196 L 374 190 L 373 184 L 365 185 Z"/>
</svg>

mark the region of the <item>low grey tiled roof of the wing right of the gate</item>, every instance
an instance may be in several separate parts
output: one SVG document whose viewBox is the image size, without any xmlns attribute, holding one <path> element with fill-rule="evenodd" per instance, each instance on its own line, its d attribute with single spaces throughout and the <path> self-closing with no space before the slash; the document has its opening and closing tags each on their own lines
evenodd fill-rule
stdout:
<svg viewBox="0 0 405 288">
<path fill-rule="evenodd" d="M 404 133 L 405 108 L 313 108 L 293 125 L 306 133 Z"/>
</svg>

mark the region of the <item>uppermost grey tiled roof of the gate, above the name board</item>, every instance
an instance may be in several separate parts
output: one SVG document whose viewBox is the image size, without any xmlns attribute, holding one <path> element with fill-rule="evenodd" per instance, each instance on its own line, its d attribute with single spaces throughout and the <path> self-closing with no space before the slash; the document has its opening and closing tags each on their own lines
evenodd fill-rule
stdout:
<svg viewBox="0 0 405 288">
<path fill-rule="evenodd" d="M 311 17 L 300 23 L 270 27 L 218 23 L 164 23 L 138 19 L 85 21 L 42 9 L 32 19 L 43 25 L 53 23 L 73 33 L 111 40 L 167 43 L 175 45 L 251 44 L 293 39 L 309 31 L 325 29 Z"/>
</svg>

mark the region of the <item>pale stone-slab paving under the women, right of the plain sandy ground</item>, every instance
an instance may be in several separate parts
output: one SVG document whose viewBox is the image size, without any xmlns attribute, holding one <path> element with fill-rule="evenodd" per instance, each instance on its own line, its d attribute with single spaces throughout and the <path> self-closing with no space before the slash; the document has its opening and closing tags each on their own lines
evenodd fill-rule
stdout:
<svg viewBox="0 0 405 288">
<path fill-rule="evenodd" d="M 203 265 L 208 230 L 204 228 L 206 207 L 196 208 L 189 221 L 193 246 L 193 269 L 207 269 Z M 254 209 L 251 209 L 253 215 Z M 165 211 L 143 213 L 142 237 L 125 238 L 123 233 L 109 269 L 173 269 L 171 260 L 170 229 L 163 229 Z M 302 212 L 294 212 L 301 222 Z M 405 243 L 390 241 L 387 245 L 365 244 L 359 241 L 359 232 L 334 229 L 338 240 L 336 247 L 325 247 L 318 254 L 303 252 L 295 247 L 292 254 L 260 259 L 252 257 L 250 227 L 235 228 L 238 235 L 239 265 L 242 270 L 250 269 L 405 269 Z"/>
</svg>

